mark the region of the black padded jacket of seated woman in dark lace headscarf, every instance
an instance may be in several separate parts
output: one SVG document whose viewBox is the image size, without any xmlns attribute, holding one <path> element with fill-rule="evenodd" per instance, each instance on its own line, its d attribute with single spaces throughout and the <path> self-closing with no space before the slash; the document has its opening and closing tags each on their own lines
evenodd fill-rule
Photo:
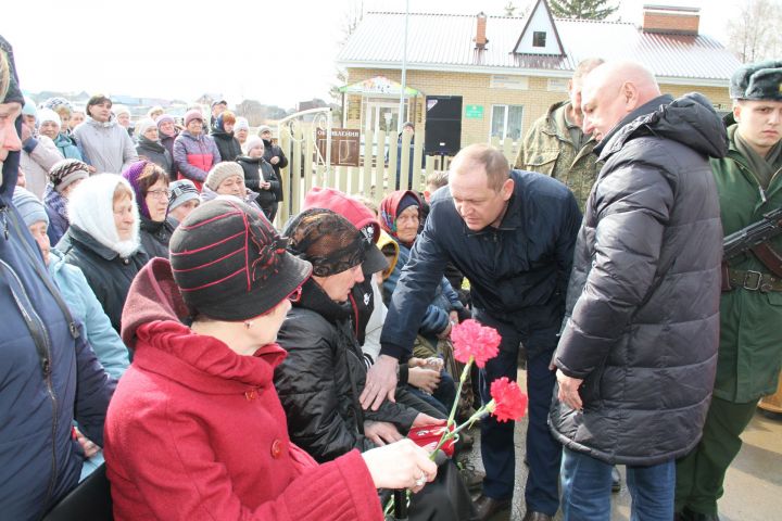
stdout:
<svg viewBox="0 0 782 521">
<path fill-rule="evenodd" d="M 291 441 L 318 461 L 375 445 L 364 436 L 364 420 L 388 421 L 406 433 L 418 411 L 386 401 L 377 411 L 362 410 L 358 396 L 366 368 L 355 340 L 349 303 L 331 301 L 312 279 L 277 335 L 288 352 L 275 371 L 275 386 L 288 417 Z"/>
</svg>

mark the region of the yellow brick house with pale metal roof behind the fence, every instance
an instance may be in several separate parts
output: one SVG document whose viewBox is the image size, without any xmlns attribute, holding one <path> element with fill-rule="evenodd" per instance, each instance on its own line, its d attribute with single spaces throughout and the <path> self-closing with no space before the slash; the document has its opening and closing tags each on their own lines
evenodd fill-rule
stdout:
<svg viewBox="0 0 782 521">
<path fill-rule="evenodd" d="M 495 137 L 514 141 L 552 103 L 586 58 L 635 60 L 664 92 L 707 96 L 730 109 L 728 85 L 740 65 L 698 31 L 695 8 L 644 5 L 641 27 L 626 22 L 563 20 L 538 0 L 527 16 L 411 13 L 403 120 L 426 125 L 427 97 L 461 97 L 461 145 Z M 340 52 L 348 75 L 343 126 L 394 132 L 399 120 L 404 13 L 370 12 Z"/>
</svg>

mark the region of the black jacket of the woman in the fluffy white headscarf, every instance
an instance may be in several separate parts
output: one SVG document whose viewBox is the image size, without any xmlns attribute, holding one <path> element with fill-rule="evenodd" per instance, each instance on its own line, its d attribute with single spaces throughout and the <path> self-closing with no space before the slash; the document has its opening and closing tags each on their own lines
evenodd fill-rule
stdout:
<svg viewBox="0 0 782 521">
<path fill-rule="evenodd" d="M 136 274 L 149 260 L 147 252 L 139 247 L 130 257 L 121 257 L 75 225 L 71 225 L 56 249 L 63 253 L 66 263 L 81 268 L 98 302 L 119 333 L 125 298 Z"/>
</svg>

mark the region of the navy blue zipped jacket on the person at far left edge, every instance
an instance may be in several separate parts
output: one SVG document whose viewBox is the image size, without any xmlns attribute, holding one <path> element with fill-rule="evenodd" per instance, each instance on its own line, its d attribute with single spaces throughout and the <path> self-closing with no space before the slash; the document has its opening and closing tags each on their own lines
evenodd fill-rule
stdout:
<svg viewBox="0 0 782 521">
<path fill-rule="evenodd" d="M 115 382 L 84 328 L 70 328 L 36 271 L 38 263 L 47 277 L 40 251 L 11 204 L 17 170 L 18 153 L 12 152 L 0 185 L 0 516 L 33 520 L 78 482 L 84 453 L 71 435 L 74 418 L 90 440 L 103 444 Z M 22 308 L 41 335 L 42 356 Z"/>
</svg>

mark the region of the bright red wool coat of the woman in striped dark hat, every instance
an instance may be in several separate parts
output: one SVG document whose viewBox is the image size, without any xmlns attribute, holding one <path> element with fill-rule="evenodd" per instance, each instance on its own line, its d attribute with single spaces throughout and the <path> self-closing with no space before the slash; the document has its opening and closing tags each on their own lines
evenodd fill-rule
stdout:
<svg viewBox="0 0 782 521">
<path fill-rule="evenodd" d="M 382 519 L 356 450 L 318 465 L 291 444 L 272 382 L 282 348 L 240 356 L 174 320 L 135 334 L 105 424 L 115 519 Z"/>
</svg>

